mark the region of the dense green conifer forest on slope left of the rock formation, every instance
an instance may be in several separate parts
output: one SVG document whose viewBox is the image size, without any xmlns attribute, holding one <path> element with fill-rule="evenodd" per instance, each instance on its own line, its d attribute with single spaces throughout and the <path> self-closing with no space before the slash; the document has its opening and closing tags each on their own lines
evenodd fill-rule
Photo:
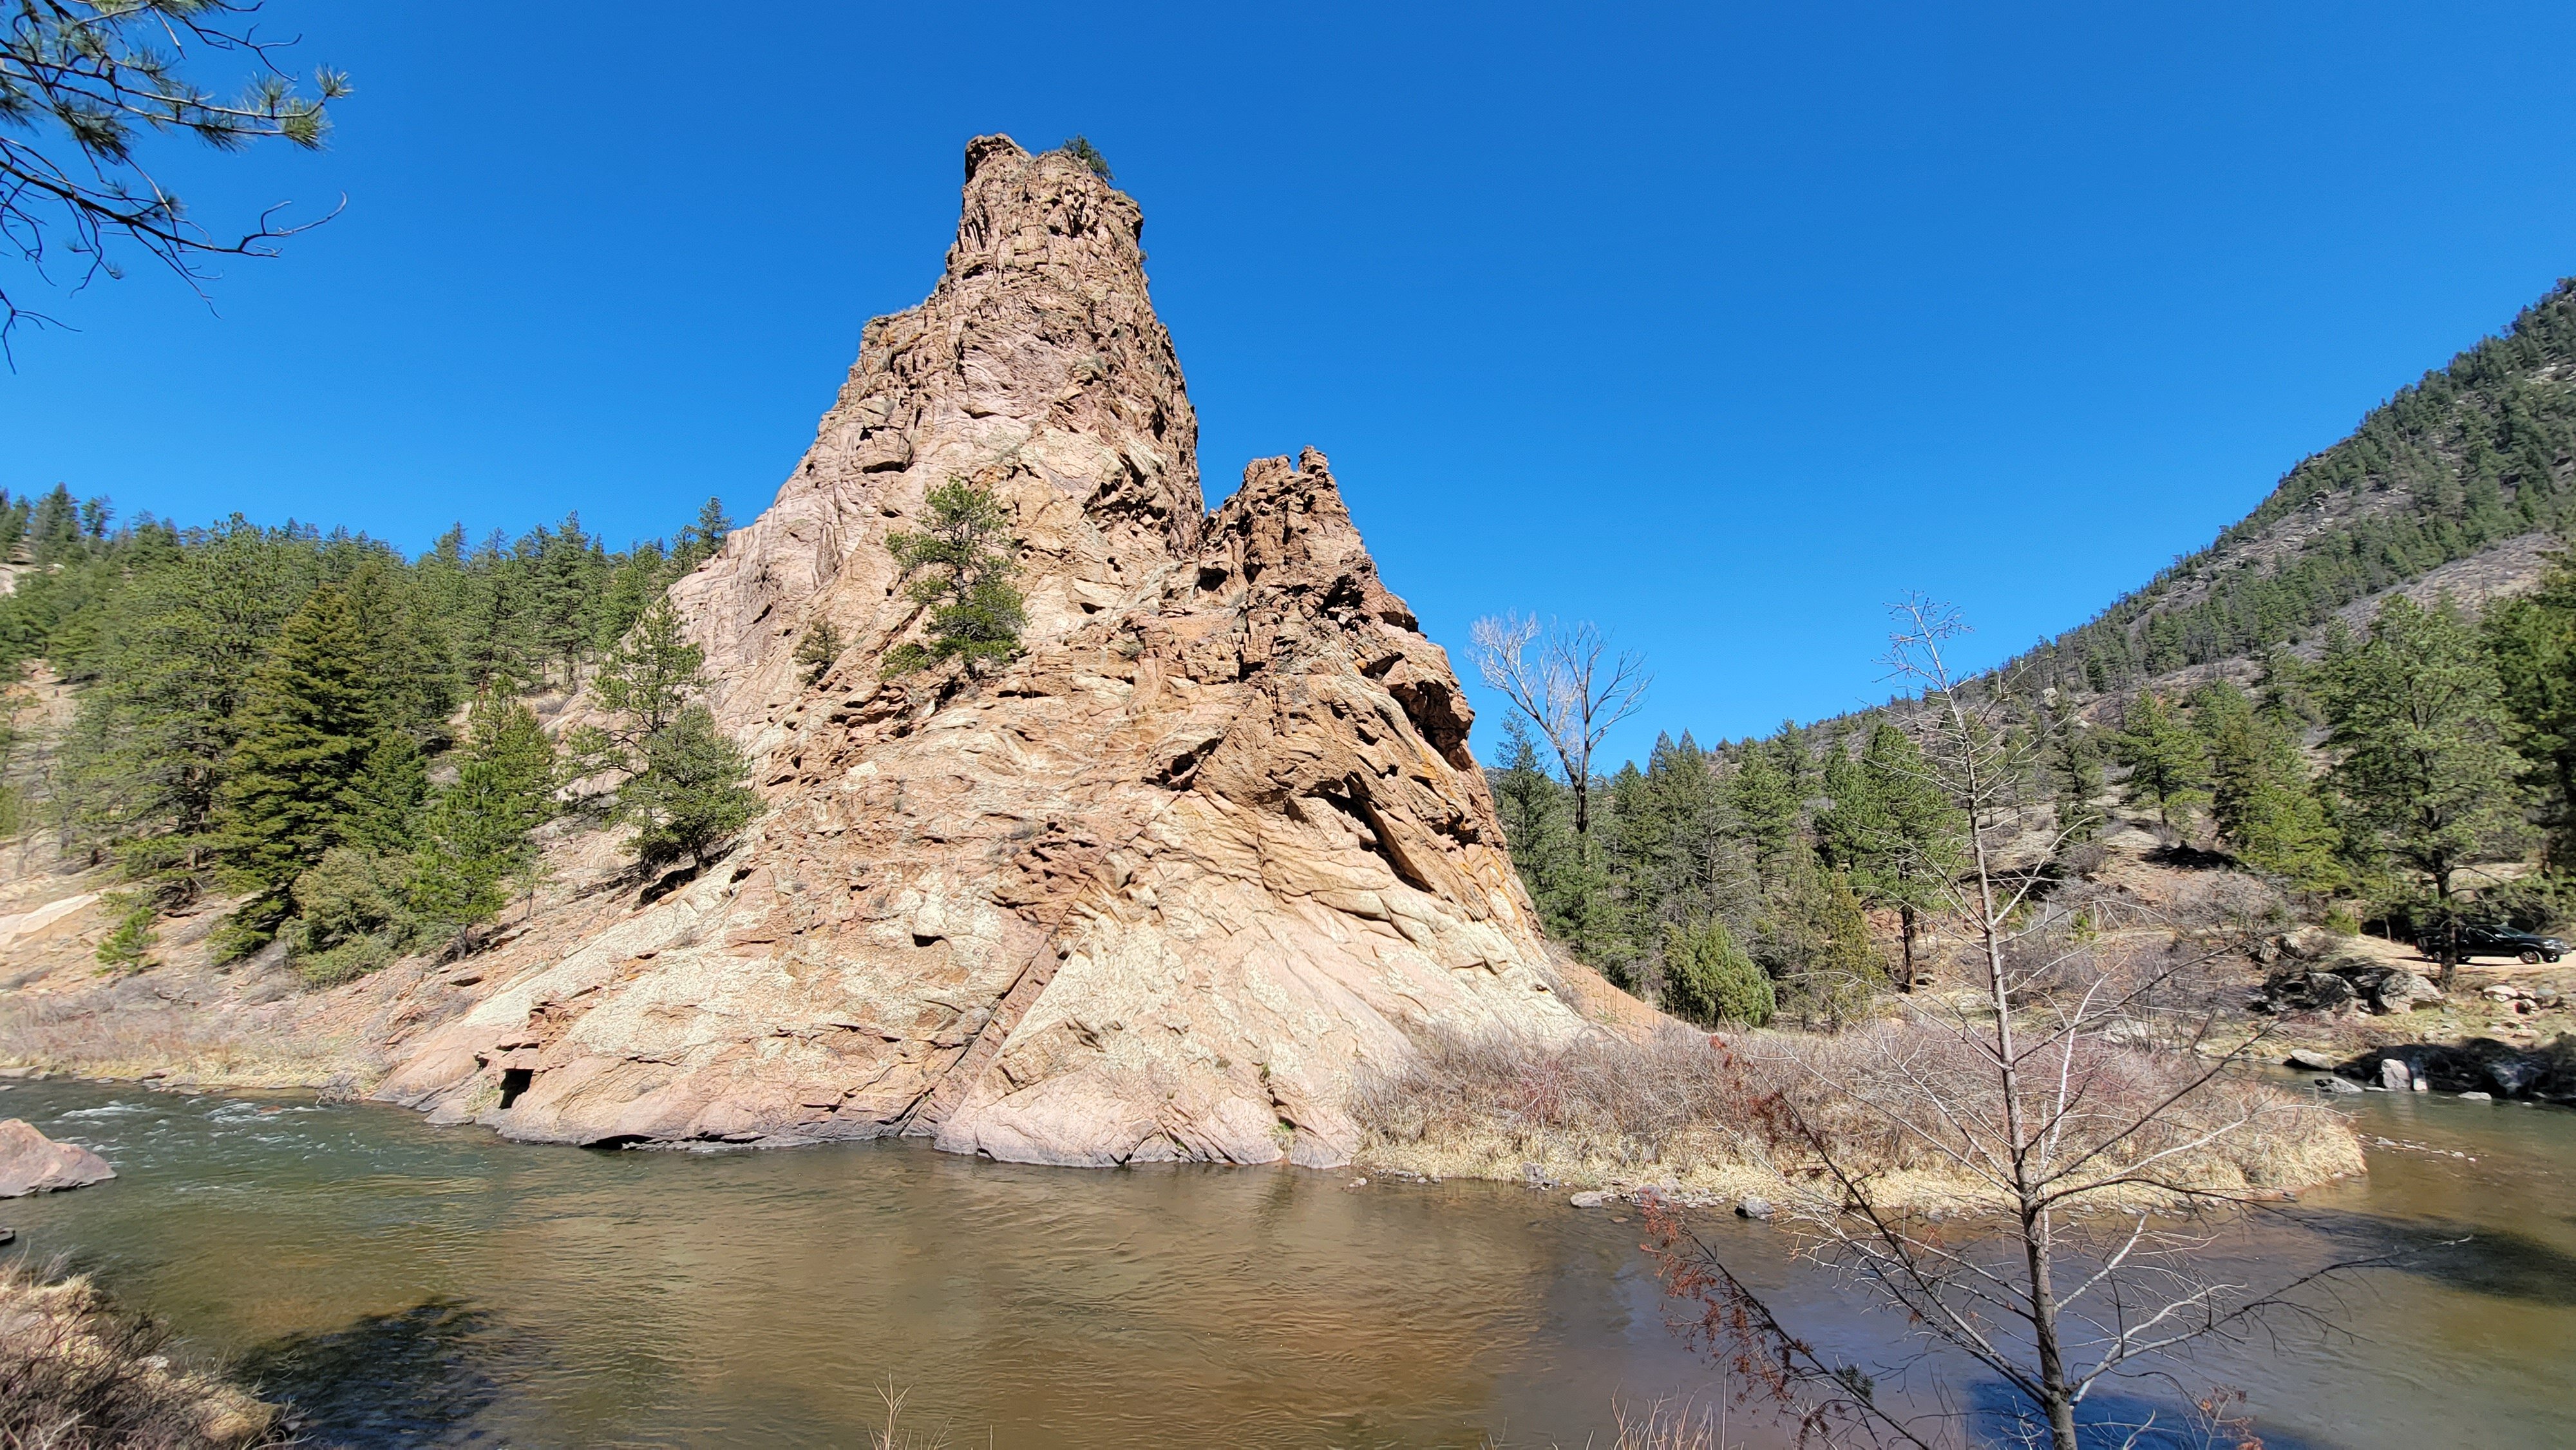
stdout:
<svg viewBox="0 0 2576 1450">
<path fill-rule="evenodd" d="M 688 708 L 698 649 L 659 603 L 724 541 L 716 500 L 677 546 L 611 551 L 567 515 L 515 541 L 456 528 L 417 559 L 240 515 L 111 520 L 59 487 L 0 494 L 0 652 L 72 695 L 44 739 L 18 739 L 36 701 L 10 695 L 0 827 L 116 868 L 111 966 L 209 891 L 240 896 L 224 953 L 286 935 L 325 981 L 469 943 L 533 886 L 533 832 L 585 806 L 564 788 L 600 770 L 644 780 L 621 801 L 654 801 L 629 811 L 647 858 L 696 845 L 675 834 L 690 809 L 739 822 L 732 744 Z M 551 739 L 528 701 L 587 677 L 631 708 Z"/>
</svg>

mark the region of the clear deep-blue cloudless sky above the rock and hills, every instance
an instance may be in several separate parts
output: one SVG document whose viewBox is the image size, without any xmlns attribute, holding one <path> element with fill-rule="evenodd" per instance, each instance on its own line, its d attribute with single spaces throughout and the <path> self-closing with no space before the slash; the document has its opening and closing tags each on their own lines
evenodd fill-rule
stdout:
<svg viewBox="0 0 2576 1450">
<path fill-rule="evenodd" d="M 2566 3 L 1236 10 L 273 3 L 355 80 L 330 152 L 170 170 L 348 211 L 214 312 L 44 299 L 0 487 L 747 520 L 935 281 L 966 137 L 1084 131 L 1211 502 L 1324 448 L 1453 652 L 1643 649 L 1641 752 L 1880 698 L 1904 590 L 1989 659 L 2084 621 L 2576 273 Z"/>
</svg>

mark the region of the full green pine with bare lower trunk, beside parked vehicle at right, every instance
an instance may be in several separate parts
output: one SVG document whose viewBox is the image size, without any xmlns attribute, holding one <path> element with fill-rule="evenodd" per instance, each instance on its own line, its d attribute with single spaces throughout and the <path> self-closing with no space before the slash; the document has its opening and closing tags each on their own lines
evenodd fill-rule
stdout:
<svg viewBox="0 0 2576 1450">
<path fill-rule="evenodd" d="M 2512 716 L 2496 667 L 2450 600 L 2427 610 L 2393 595 L 2367 641 L 2326 652 L 2321 695 L 2336 757 L 2329 778 L 2347 822 L 2424 889 L 2447 986 L 2458 968 L 2447 935 L 2455 876 L 2522 829 L 2522 757 L 2506 744 Z"/>
</svg>

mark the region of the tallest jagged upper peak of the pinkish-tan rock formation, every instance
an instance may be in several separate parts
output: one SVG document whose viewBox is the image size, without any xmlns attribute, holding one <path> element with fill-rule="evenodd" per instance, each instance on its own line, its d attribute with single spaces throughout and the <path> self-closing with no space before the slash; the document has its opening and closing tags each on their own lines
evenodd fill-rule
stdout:
<svg viewBox="0 0 2576 1450">
<path fill-rule="evenodd" d="M 940 283 L 868 322 L 778 500 L 672 590 L 729 726 L 757 729 L 791 698 L 806 623 L 868 644 L 902 628 L 884 538 L 948 479 L 1012 505 L 1030 572 L 1056 577 L 1030 590 L 1041 631 L 1077 585 L 1195 546 L 1198 415 L 1146 296 L 1141 229 L 1136 201 L 1074 157 L 1010 137 L 966 147 Z"/>
</svg>

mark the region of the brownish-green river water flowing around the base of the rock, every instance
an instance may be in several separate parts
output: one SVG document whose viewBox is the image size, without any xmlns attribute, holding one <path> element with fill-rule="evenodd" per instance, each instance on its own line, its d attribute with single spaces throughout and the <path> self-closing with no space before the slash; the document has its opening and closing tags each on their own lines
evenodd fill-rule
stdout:
<svg viewBox="0 0 2576 1450">
<path fill-rule="evenodd" d="M 2576 1115 L 2344 1102 L 2367 1182 L 2223 1254 L 2262 1275 L 2421 1254 L 2324 1303 L 2344 1334 L 2208 1352 L 2172 1383 L 2246 1391 L 2272 1450 L 2576 1445 Z M 118 1169 L 0 1203 L 10 1252 L 67 1254 L 330 1445 L 868 1445 L 894 1386 L 909 1429 L 958 1447 L 1574 1447 L 1613 1442 L 1615 1404 L 1728 1396 L 1667 1329 L 1633 1210 L 1510 1185 L 538 1149 L 394 1107 L 88 1082 L 15 1084 L 8 1115 Z M 1705 1231 L 1886 1393 L 1932 1393 L 1899 1365 L 1904 1324 L 1788 1259 L 1780 1229 Z M 1999 1404 L 1973 1375 L 1947 1393 Z M 1780 1435 L 1734 1411 L 1728 1440 Z"/>
</svg>

